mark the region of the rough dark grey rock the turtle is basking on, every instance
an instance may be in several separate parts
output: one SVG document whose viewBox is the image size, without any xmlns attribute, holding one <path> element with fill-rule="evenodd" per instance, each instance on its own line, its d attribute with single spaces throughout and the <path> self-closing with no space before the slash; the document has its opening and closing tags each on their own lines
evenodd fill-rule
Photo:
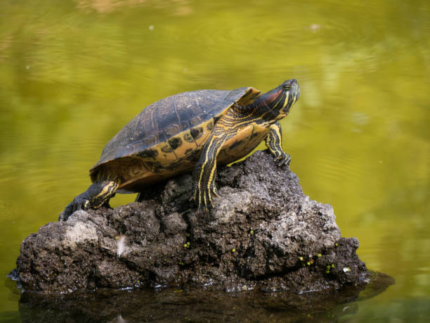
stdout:
<svg viewBox="0 0 430 323">
<path fill-rule="evenodd" d="M 221 286 L 297 293 L 365 285 L 358 240 L 330 205 L 305 196 L 288 167 L 258 151 L 219 170 L 209 213 L 195 213 L 189 174 L 115 210 L 77 211 L 22 242 L 16 274 L 44 293 L 137 286 Z"/>
</svg>

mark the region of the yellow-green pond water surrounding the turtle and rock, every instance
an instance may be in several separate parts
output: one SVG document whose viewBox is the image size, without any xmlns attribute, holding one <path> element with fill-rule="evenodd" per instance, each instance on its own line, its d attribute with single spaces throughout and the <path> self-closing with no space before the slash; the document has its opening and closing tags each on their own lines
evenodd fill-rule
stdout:
<svg viewBox="0 0 430 323">
<path fill-rule="evenodd" d="M 104 144 L 142 108 L 291 78 L 301 85 L 282 120 L 292 170 L 333 205 L 342 235 L 358 237 L 367 267 L 396 279 L 341 319 L 427 322 L 425 0 L 1 1 L 0 320 L 20 317 L 5 275 L 22 239 L 89 186 Z"/>
</svg>

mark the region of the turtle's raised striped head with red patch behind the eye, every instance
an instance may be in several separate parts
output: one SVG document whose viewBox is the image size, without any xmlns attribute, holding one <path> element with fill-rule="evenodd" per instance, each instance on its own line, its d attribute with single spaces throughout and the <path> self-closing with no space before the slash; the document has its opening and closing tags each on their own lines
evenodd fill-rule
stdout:
<svg viewBox="0 0 430 323">
<path fill-rule="evenodd" d="M 289 109 L 299 99 L 299 96 L 299 83 L 293 79 L 287 80 L 263 94 L 261 101 L 277 115 L 276 119 L 280 119 L 289 113 Z"/>
</svg>

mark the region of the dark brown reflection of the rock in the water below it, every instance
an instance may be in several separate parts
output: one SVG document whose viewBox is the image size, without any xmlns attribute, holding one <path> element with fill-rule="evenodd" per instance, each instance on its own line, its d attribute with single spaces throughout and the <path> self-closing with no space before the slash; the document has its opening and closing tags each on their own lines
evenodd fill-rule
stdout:
<svg viewBox="0 0 430 323">
<path fill-rule="evenodd" d="M 375 273 L 365 291 L 350 286 L 301 295 L 199 288 L 96 291 L 67 296 L 23 293 L 20 315 L 22 322 L 333 322 L 358 311 L 358 303 L 351 302 L 372 298 L 391 284 L 391 277 Z"/>
</svg>

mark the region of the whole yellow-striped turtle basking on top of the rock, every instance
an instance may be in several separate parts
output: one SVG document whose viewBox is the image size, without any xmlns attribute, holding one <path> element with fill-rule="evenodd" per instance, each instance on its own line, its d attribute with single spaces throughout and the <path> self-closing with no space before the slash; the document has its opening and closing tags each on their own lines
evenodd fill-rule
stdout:
<svg viewBox="0 0 430 323">
<path fill-rule="evenodd" d="M 197 210 L 212 207 L 216 165 L 247 156 L 261 141 L 278 165 L 290 163 L 282 150 L 279 120 L 299 99 L 297 80 L 262 94 L 254 87 L 186 91 L 156 101 L 136 115 L 103 148 L 89 171 L 93 184 L 76 196 L 59 220 L 76 210 L 109 205 L 118 193 L 139 193 L 193 170 Z"/>
</svg>

